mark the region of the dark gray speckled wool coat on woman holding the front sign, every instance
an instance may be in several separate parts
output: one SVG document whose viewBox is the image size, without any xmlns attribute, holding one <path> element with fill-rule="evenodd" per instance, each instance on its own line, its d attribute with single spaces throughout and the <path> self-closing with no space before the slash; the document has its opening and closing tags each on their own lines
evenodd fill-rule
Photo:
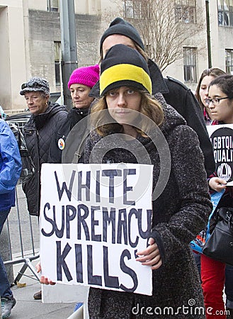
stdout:
<svg viewBox="0 0 233 319">
<path fill-rule="evenodd" d="M 153 202 L 152 233 L 149 237 L 156 240 L 163 260 L 162 266 L 152 272 L 153 295 L 91 288 L 90 318 L 205 318 L 200 279 L 189 247 L 189 242 L 205 227 L 212 208 L 203 153 L 196 133 L 174 108 L 161 102 L 165 116 L 161 132 L 171 152 L 171 173 L 164 191 Z M 122 140 L 120 148 L 117 138 L 117 148 L 114 149 L 113 142 L 112 150 L 104 155 L 102 161 L 101 154 L 108 146 L 104 138 L 92 131 L 86 141 L 84 162 L 89 162 L 94 145 L 97 151 L 92 162 L 135 162 L 132 152 L 140 148 L 136 144 L 138 141 L 154 164 L 155 186 L 159 177 L 159 155 L 149 138 L 140 136 L 135 141 Z M 171 307 L 170 310 L 167 307 Z M 186 308 L 182 310 L 182 307 Z M 200 312 L 198 307 L 201 307 Z"/>
</svg>

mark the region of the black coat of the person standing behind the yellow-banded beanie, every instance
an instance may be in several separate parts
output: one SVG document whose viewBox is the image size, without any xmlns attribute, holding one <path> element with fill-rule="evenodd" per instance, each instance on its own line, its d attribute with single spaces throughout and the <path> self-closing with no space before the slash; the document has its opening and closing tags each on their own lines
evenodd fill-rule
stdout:
<svg viewBox="0 0 233 319">
<path fill-rule="evenodd" d="M 166 103 L 173 106 L 183 116 L 188 126 L 195 130 L 200 141 L 200 148 L 205 158 L 205 171 L 207 176 L 215 172 L 215 159 L 212 144 L 205 126 L 203 113 L 197 99 L 183 83 L 171 77 L 164 77 L 159 67 L 152 60 L 148 62 L 150 77 L 152 79 L 152 93 L 155 98 L 161 93 Z M 99 83 L 97 82 L 89 96 L 99 97 Z"/>
</svg>

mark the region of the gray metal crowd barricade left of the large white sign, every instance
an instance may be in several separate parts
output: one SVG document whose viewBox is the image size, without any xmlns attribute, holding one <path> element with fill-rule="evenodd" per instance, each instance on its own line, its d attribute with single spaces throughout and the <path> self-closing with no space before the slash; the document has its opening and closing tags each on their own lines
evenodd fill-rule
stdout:
<svg viewBox="0 0 233 319">
<path fill-rule="evenodd" d="M 18 192 L 21 194 L 19 201 Z M 29 215 L 25 203 L 25 195 L 21 189 L 21 185 L 16 186 L 16 207 L 11 208 L 11 213 L 6 220 L 7 235 L 8 235 L 8 255 L 9 260 L 4 261 L 6 265 L 23 264 L 14 284 L 20 281 L 27 269 L 30 269 L 33 276 L 28 276 L 31 279 L 40 281 L 40 276 L 35 270 L 32 261 L 40 257 L 39 253 L 39 226 L 38 218 Z M 35 230 L 38 234 L 35 235 Z M 35 247 L 35 237 L 38 240 L 38 247 Z M 14 250 L 14 252 L 13 252 Z"/>
</svg>

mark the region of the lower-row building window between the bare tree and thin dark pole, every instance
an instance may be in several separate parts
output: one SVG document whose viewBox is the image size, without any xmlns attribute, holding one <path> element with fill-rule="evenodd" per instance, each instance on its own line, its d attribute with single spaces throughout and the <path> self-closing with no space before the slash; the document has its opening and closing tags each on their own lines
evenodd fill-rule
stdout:
<svg viewBox="0 0 233 319">
<path fill-rule="evenodd" d="M 184 81 L 188 83 L 197 82 L 197 48 L 183 48 L 183 74 Z"/>
</svg>

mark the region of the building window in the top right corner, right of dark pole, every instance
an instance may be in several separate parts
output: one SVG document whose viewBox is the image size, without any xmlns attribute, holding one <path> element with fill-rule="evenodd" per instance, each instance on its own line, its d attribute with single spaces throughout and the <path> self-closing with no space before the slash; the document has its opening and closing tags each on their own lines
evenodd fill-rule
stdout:
<svg viewBox="0 0 233 319">
<path fill-rule="evenodd" d="M 233 0 L 217 0 L 219 26 L 233 26 Z"/>
</svg>

